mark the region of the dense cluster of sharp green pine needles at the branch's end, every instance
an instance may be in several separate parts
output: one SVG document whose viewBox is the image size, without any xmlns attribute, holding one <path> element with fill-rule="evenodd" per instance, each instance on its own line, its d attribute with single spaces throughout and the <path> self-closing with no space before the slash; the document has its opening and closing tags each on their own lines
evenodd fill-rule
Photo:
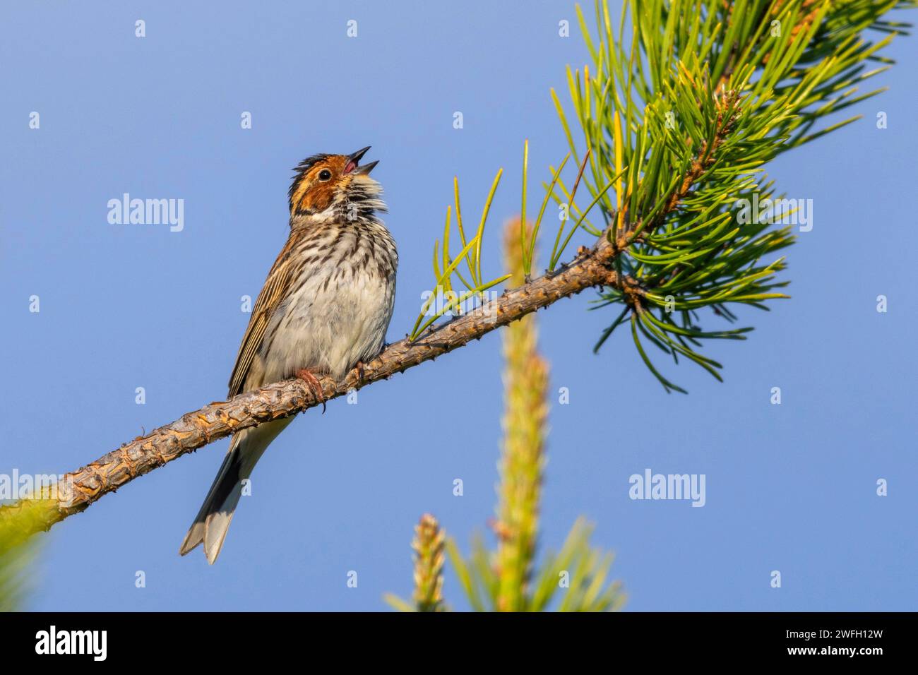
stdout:
<svg viewBox="0 0 918 675">
<path fill-rule="evenodd" d="M 608 0 L 596 0 L 593 30 L 577 7 L 590 59 L 582 69 L 568 68 L 567 80 L 587 150 L 584 183 L 621 249 L 621 285 L 603 289 L 594 307 L 611 310 L 597 350 L 629 323 L 638 354 L 667 391 L 685 390 L 657 369 L 648 343 L 675 363 L 684 357 L 722 379 L 721 364 L 701 347 L 711 339 L 744 340 L 753 329 L 702 322 L 732 322 L 730 306 L 769 309 L 771 300 L 788 298 L 781 290 L 789 281 L 779 276 L 786 262 L 773 253 L 795 241 L 791 225 L 800 208 L 796 199 L 773 194 L 766 164 L 859 118 L 813 130 L 882 91 L 861 95 L 857 84 L 885 70 L 865 69 L 871 61 L 890 63 L 879 52 L 908 24 L 896 22 L 893 30 L 880 17 L 916 5 L 626 0 L 613 22 Z M 876 42 L 874 31 L 882 36 Z M 553 97 L 579 162 L 568 115 L 554 90 Z M 567 202 L 587 218 L 589 208 L 575 206 L 573 190 Z M 742 203 L 775 206 L 750 220 Z M 588 219 L 583 229 L 599 234 Z"/>
</svg>

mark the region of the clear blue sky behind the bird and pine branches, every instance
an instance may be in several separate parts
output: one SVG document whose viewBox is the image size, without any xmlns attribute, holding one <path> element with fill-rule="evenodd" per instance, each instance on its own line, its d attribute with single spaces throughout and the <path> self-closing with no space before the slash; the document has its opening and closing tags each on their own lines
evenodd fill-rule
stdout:
<svg viewBox="0 0 918 675">
<path fill-rule="evenodd" d="M 505 168 L 485 245 L 496 276 L 522 142 L 542 178 L 565 153 L 549 87 L 564 91 L 565 65 L 587 58 L 577 28 L 557 34 L 561 19 L 576 27 L 572 4 L 517 5 L 5 4 L 0 472 L 75 469 L 225 396 L 249 316 L 240 298 L 285 241 L 290 168 L 314 152 L 371 144 L 380 160 L 401 257 L 390 341 L 431 286 L 453 174 L 471 212 Z M 812 198 L 814 226 L 788 254 L 793 298 L 741 312 L 750 339 L 711 346 L 723 384 L 670 367 L 690 393 L 666 395 L 624 332 L 592 354 L 611 317 L 587 312 L 588 294 L 539 313 L 553 390 L 570 391 L 551 411 L 542 550 L 588 516 L 629 610 L 918 607 L 918 41 L 887 53 L 900 65 L 874 82 L 890 92 L 859 106 L 864 120 L 769 167 L 778 191 Z M 109 224 L 107 201 L 126 192 L 184 199 L 184 230 Z M 177 549 L 227 441 L 132 482 L 45 537 L 29 608 L 386 609 L 384 592 L 410 592 L 421 513 L 464 549 L 493 514 L 499 345 L 490 335 L 365 388 L 356 406 L 300 416 L 212 568 Z M 645 468 L 704 474 L 706 505 L 630 500 Z M 452 576 L 445 593 L 465 608 Z"/>
</svg>

